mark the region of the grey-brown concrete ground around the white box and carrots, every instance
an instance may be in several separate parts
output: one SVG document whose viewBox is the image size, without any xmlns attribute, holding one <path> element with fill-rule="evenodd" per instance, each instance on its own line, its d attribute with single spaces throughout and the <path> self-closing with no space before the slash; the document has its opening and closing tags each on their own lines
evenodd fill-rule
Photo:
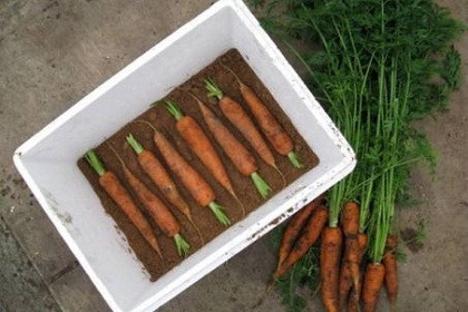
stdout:
<svg viewBox="0 0 468 312">
<path fill-rule="evenodd" d="M 440 1 L 468 22 L 466 0 Z M 212 3 L 212 0 L 0 0 L 0 311 L 108 311 L 13 168 L 14 148 Z M 468 36 L 457 43 L 468 78 Z M 466 79 L 467 80 L 467 79 Z M 423 246 L 400 264 L 399 311 L 468 311 L 468 85 L 450 109 L 419 123 L 440 162 L 411 176 L 419 204 L 406 233 L 426 224 Z M 275 255 L 269 237 L 160 311 L 284 311 L 263 294 Z M 310 300 L 309 308 L 321 306 Z M 316 309 L 320 311 L 320 309 Z"/>
</svg>

